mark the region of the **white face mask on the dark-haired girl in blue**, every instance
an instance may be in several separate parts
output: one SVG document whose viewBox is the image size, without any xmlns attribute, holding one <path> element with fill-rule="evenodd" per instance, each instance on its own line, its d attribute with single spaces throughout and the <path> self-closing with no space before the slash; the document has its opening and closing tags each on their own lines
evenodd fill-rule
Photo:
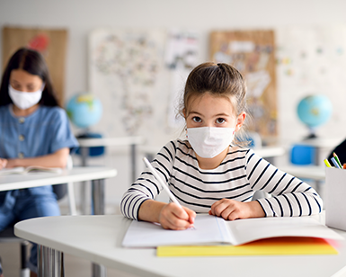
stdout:
<svg viewBox="0 0 346 277">
<path fill-rule="evenodd" d="M 36 92 L 26 93 L 26 92 L 17 91 L 12 87 L 12 85 L 8 85 L 8 93 L 13 103 L 18 108 L 20 108 L 21 110 L 26 110 L 40 102 L 40 98 L 42 97 L 43 87 L 44 85 L 42 85 L 41 89 Z"/>
</svg>

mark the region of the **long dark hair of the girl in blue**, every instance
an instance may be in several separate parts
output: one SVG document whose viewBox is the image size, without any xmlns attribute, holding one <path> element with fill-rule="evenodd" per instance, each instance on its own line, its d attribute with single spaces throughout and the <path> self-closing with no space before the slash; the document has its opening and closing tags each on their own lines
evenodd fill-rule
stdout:
<svg viewBox="0 0 346 277">
<path fill-rule="evenodd" d="M 18 49 L 10 58 L 4 69 L 0 87 L 0 106 L 13 103 L 8 94 L 8 85 L 13 69 L 22 69 L 31 75 L 39 76 L 45 84 L 40 104 L 45 106 L 58 106 L 58 98 L 53 89 L 49 70 L 44 58 L 39 52 L 26 48 Z"/>
</svg>

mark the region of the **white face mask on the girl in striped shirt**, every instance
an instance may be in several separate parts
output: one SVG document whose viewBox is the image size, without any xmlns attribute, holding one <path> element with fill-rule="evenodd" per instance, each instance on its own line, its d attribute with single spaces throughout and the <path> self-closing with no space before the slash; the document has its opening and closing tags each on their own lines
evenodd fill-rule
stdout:
<svg viewBox="0 0 346 277">
<path fill-rule="evenodd" d="M 235 128 L 188 128 L 186 137 L 198 156 L 211 158 L 230 145 L 235 137 Z"/>
</svg>

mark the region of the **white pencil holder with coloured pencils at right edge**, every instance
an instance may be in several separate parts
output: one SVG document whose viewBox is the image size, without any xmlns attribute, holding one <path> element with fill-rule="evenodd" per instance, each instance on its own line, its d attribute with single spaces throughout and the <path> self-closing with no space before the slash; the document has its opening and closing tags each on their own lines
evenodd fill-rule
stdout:
<svg viewBox="0 0 346 277">
<path fill-rule="evenodd" d="M 346 170 L 325 168 L 325 225 L 346 231 Z"/>
</svg>

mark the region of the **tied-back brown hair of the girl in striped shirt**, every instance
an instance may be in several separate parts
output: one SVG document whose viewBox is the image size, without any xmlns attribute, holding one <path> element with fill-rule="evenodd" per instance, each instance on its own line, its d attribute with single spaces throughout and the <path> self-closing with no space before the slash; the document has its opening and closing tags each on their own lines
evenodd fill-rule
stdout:
<svg viewBox="0 0 346 277">
<path fill-rule="evenodd" d="M 211 94 L 217 97 L 226 97 L 231 101 L 235 116 L 246 112 L 246 84 L 242 74 L 235 68 L 225 63 L 206 62 L 195 67 L 187 78 L 179 114 L 184 117 L 188 111 L 191 98 Z M 187 114 L 186 114 L 187 115 Z M 185 115 L 185 116 L 186 116 Z M 244 127 L 236 134 L 236 145 L 244 143 Z"/>
</svg>

